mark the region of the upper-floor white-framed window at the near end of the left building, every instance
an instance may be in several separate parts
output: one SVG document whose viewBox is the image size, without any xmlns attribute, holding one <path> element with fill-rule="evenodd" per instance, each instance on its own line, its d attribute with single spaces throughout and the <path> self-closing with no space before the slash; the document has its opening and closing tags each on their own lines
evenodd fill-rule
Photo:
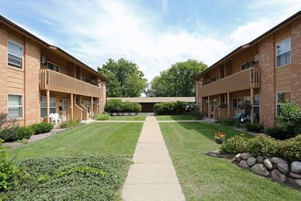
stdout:
<svg viewBox="0 0 301 201">
<path fill-rule="evenodd" d="M 8 49 L 8 65 L 16 67 L 18 69 L 22 69 L 23 47 L 8 40 L 7 49 Z"/>
</svg>

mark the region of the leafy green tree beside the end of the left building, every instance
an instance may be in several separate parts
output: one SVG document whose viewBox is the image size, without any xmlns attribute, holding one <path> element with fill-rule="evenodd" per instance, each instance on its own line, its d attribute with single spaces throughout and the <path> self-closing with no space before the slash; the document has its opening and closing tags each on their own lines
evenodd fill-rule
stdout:
<svg viewBox="0 0 301 201">
<path fill-rule="evenodd" d="M 140 97 L 140 93 L 148 86 L 147 79 L 137 64 L 124 58 L 118 61 L 109 58 L 98 70 L 108 79 L 108 97 Z"/>
</svg>

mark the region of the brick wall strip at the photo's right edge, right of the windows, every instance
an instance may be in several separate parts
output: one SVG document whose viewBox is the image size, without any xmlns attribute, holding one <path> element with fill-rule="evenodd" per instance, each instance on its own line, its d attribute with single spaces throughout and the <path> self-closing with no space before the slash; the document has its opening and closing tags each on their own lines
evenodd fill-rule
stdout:
<svg viewBox="0 0 301 201">
<path fill-rule="evenodd" d="M 301 105 L 301 19 L 292 24 L 292 100 Z"/>
</svg>

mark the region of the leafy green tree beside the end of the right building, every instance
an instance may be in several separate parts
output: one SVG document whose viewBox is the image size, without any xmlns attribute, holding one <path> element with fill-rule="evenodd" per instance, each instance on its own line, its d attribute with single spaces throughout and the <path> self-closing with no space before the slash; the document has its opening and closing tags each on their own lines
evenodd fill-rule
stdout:
<svg viewBox="0 0 301 201">
<path fill-rule="evenodd" d="M 194 78 L 206 68 L 206 64 L 195 59 L 172 64 L 170 69 L 161 71 L 160 76 L 151 80 L 148 93 L 157 97 L 192 97 Z"/>
</svg>

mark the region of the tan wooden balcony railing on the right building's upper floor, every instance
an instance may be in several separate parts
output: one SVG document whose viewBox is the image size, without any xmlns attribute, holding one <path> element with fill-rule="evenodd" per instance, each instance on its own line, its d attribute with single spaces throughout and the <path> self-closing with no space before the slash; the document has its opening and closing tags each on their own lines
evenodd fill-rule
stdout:
<svg viewBox="0 0 301 201">
<path fill-rule="evenodd" d="M 199 88 L 200 97 L 260 88 L 260 72 L 258 68 L 242 70 L 223 79 L 213 81 Z"/>
</svg>

